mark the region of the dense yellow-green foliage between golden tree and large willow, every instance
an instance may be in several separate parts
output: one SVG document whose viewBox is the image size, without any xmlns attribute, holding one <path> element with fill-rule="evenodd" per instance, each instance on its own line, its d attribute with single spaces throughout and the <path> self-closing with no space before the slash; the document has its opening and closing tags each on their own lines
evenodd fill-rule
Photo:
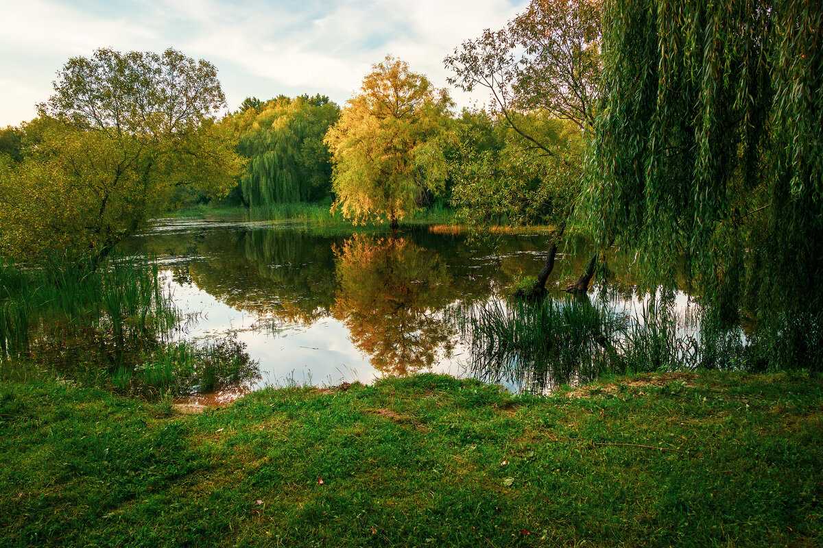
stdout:
<svg viewBox="0 0 823 548">
<path fill-rule="evenodd" d="M 477 225 L 563 223 L 579 192 L 580 132 L 546 113 L 510 116 L 556 155 L 529 146 L 485 110 L 464 110 L 431 143 L 432 157 L 448 177 L 451 203 Z"/>
</svg>

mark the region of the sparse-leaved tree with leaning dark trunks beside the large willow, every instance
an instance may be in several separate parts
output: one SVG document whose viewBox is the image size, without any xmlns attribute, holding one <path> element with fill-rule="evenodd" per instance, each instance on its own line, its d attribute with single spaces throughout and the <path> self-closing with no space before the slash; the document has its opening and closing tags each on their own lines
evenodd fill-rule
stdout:
<svg viewBox="0 0 823 548">
<path fill-rule="evenodd" d="M 582 191 L 580 137 L 588 138 L 597 114 L 601 14 L 599 0 L 532 0 L 527 11 L 504 29 L 486 30 L 444 59 L 455 74 L 449 82 L 466 91 L 486 88 L 493 119 L 518 136 L 507 137 L 505 154 L 494 162 L 486 153 L 480 163 L 466 164 L 463 169 L 469 177 L 486 191 L 497 190 L 485 204 L 465 205 L 486 207 L 486 217 L 508 209 L 509 219 L 528 219 L 523 212 L 547 210 L 557 227 L 546 265 L 537 276 L 537 292 L 544 291 L 557 242 Z M 577 135 L 569 125 L 577 127 Z M 482 182 L 500 169 L 514 177 Z M 476 188 L 477 182 L 467 188 Z M 587 291 L 594 265 L 589 261 L 585 274 L 567 290 Z"/>
</svg>

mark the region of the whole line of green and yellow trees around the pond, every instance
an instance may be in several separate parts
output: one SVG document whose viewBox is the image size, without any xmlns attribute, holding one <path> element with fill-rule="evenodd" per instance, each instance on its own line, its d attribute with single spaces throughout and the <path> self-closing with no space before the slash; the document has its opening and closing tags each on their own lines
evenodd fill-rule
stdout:
<svg viewBox="0 0 823 548">
<path fill-rule="evenodd" d="M 444 59 L 484 109 L 452 113 L 402 60 L 339 107 L 249 98 L 182 53 L 72 58 L 40 116 L 0 135 L 0 248 L 105 256 L 175 201 L 330 197 L 393 226 L 436 198 L 477 223 L 547 223 L 538 289 L 570 230 L 676 269 L 717 325 L 770 359 L 821 366 L 823 10 L 795 0 L 532 0 Z"/>
</svg>

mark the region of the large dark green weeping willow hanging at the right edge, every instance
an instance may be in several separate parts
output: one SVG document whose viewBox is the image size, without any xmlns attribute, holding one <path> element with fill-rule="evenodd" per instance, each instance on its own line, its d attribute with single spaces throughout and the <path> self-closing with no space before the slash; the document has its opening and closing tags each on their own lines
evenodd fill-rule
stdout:
<svg viewBox="0 0 823 548">
<path fill-rule="evenodd" d="M 678 267 L 774 366 L 821 368 L 823 9 L 607 0 L 585 196 L 603 246 Z"/>
</svg>

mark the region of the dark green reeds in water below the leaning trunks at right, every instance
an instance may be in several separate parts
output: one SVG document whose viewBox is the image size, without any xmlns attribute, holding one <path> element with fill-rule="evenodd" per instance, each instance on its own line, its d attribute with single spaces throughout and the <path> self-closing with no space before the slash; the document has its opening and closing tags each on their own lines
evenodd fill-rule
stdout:
<svg viewBox="0 0 823 548">
<path fill-rule="evenodd" d="M 743 370 L 756 353 L 741 329 L 719 329 L 706 315 L 683 325 L 657 298 L 632 313 L 564 296 L 495 301 L 457 316 L 472 375 L 535 392 L 604 374 Z"/>
</svg>

